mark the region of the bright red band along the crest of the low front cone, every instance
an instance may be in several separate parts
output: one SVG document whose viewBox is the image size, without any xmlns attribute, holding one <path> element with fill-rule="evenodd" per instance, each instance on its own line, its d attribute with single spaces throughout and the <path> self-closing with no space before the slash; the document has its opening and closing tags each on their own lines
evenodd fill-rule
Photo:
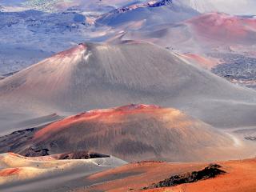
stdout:
<svg viewBox="0 0 256 192">
<path fill-rule="evenodd" d="M 39 130 L 34 134 L 34 140 L 40 140 L 42 138 L 50 137 L 50 135 L 57 133 L 62 129 L 69 128 L 72 124 L 88 121 L 103 121 L 110 118 L 118 118 L 126 114 L 138 114 L 138 113 L 154 113 L 156 109 L 160 109 L 159 106 L 154 105 L 128 105 L 120 106 L 107 110 L 90 110 L 82 114 L 77 114 L 61 121 L 54 122 L 49 126 L 46 126 L 42 130 Z"/>
</svg>

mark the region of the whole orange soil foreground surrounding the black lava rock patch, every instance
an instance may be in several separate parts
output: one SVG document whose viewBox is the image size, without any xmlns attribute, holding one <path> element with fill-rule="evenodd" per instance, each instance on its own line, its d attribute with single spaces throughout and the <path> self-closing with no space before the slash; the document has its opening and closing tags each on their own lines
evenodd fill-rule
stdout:
<svg viewBox="0 0 256 192">
<path fill-rule="evenodd" d="M 186 183 L 173 187 L 143 191 L 171 192 L 254 192 L 256 191 L 256 159 L 218 162 L 226 172 L 216 178 Z M 86 191 L 140 191 L 145 186 L 160 182 L 176 174 L 202 170 L 209 164 L 171 164 L 166 162 L 139 162 L 93 174 L 86 180 L 98 183 Z M 76 190 L 80 192 L 82 190 Z"/>
</svg>

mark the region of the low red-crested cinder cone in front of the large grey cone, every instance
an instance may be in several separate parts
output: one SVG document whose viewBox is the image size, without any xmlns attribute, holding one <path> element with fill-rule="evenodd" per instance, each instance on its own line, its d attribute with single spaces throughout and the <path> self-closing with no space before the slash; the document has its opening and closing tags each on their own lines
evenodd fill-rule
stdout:
<svg viewBox="0 0 256 192">
<path fill-rule="evenodd" d="M 234 147 L 228 134 L 179 110 L 148 105 L 91 110 L 41 129 L 7 135 L 0 141 L 1 153 L 11 150 L 40 156 L 93 150 L 131 162 L 207 161 L 243 154 L 242 147 Z"/>
</svg>

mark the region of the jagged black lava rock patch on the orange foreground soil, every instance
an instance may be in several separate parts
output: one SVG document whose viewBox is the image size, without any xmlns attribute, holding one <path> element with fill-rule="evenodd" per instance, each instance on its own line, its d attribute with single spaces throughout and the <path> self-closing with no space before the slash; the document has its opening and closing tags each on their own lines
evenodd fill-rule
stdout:
<svg viewBox="0 0 256 192">
<path fill-rule="evenodd" d="M 154 183 L 151 186 L 144 187 L 143 190 L 168 187 L 168 186 L 178 186 L 184 183 L 198 182 L 202 180 L 206 180 L 209 178 L 215 178 L 219 174 L 225 174 L 224 170 L 221 170 L 222 166 L 217 164 L 210 164 L 210 166 L 206 166 L 203 170 L 193 171 L 187 174 L 177 174 L 171 176 L 170 178 L 166 178 L 164 181 Z"/>
</svg>

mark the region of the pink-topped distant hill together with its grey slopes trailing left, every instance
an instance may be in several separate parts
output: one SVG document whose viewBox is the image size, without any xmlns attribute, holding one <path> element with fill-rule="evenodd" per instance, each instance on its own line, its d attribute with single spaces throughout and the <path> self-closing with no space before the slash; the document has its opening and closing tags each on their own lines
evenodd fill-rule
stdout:
<svg viewBox="0 0 256 192">
<path fill-rule="evenodd" d="M 201 14 L 178 24 L 156 25 L 154 30 L 128 28 L 119 34 L 122 40 L 145 39 L 164 47 L 186 53 L 225 51 L 251 54 L 256 42 L 256 19 L 229 14 Z"/>
</svg>

